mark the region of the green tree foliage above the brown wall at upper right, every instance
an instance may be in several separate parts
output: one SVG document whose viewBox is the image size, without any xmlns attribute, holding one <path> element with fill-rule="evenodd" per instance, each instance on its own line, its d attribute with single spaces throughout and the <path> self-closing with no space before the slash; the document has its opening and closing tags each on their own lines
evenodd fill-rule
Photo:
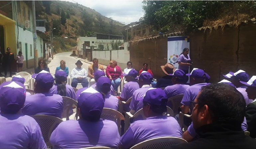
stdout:
<svg viewBox="0 0 256 149">
<path fill-rule="evenodd" d="M 187 30 L 201 27 L 205 20 L 238 13 L 255 14 L 255 1 L 143 1 L 145 15 L 141 20 L 160 31 L 177 26 Z M 251 11 L 251 12 L 250 12 Z"/>
</svg>

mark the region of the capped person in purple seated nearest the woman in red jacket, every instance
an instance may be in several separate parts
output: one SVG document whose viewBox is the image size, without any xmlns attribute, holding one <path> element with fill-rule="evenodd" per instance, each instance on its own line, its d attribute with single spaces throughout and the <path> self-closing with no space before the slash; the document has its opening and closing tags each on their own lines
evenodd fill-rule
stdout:
<svg viewBox="0 0 256 149">
<path fill-rule="evenodd" d="M 138 72 L 135 69 L 131 69 L 127 75 L 122 74 L 125 76 L 125 80 L 127 81 L 127 83 L 124 84 L 121 95 L 118 97 L 119 100 L 127 101 L 129 98 L 132 97 L 133 92 L 140 88 L 137 80 L 135 79 L 137 77 L 137 74 Z M 129 105 L 124 105 L 124 110 L 126 112 L 129 112 L 131 109 L 129 108 Z"/>
</svg>

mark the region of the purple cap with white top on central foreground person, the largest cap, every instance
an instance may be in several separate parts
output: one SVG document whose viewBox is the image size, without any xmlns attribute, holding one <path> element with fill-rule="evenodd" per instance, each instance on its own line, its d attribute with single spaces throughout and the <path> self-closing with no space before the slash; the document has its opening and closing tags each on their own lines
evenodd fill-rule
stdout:
<svg viewBox="0 0 256 149">
<path fill-rule="evenodd" d="M 83 117 L 100 116 L 104 107 L 104 99 L 101 93 L 89 87 L 79 95 L 77 107 L 80 109 Z"/>
</svg>

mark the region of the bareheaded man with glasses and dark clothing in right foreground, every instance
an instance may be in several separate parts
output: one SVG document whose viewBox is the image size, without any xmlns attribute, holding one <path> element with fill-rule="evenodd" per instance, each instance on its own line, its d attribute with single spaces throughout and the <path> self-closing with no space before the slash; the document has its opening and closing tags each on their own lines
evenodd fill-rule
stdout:
<svg viewBox="0 0 256 149">
<path fill-rule="evenodd" d="M 241 129 L 245 102 L 234 87 L 203 86 L 191 104 L 193 127 L 200 138 L 173 148 L 255 148 L 255 138 L 245 136 Z"/>
</svg>

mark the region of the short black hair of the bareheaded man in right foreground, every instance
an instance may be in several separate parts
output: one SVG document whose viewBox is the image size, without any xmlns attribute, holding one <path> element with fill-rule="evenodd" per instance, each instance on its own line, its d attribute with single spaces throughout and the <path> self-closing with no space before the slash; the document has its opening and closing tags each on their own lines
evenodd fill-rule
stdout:
<svg viewBox="0 0 256 149">
<path fill-rule="evenodd" d="M 203 86 L 197 97 L 198 108 L 208 106 L 213 123 L 242 124 L 245 115 L 243 95 L 225 83 Z"/>
</svg>

